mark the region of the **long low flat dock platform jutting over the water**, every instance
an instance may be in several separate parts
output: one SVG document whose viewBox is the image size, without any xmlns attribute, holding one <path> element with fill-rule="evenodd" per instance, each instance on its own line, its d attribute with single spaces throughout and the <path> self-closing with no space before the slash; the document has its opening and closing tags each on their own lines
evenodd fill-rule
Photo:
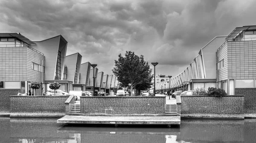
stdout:
<svg viewBox="0 0 256 143">
<path fill-rule="evenodd" d="M 180 125 L 180 116 L 70 116 L 57 123 Z"/>
</svg>

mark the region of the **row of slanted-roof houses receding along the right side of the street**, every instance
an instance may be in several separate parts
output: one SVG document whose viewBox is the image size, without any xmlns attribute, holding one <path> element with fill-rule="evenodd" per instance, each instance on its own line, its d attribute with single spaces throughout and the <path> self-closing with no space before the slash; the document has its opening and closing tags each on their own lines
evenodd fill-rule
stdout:
<svg viewBox="0 0 256 143">
<path fill-rule="evenodd" d="M 157 83 L 156 90 L 166 84 L 167 89 L 217 87 L 228 95 L 238 95 L 241 91 L 253 94 L 256 89 L 255 55 L 256 25 L 237 27 L 228 36 L 212 39 L 182 73 L 170 81 Z"/>
</svg>

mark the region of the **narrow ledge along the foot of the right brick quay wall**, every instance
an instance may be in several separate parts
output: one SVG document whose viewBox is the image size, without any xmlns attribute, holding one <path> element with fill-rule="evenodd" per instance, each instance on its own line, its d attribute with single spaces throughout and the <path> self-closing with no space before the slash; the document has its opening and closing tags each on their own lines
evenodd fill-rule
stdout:
<svg viewBox="0 0 256 143">
<path fill-rule="evenodd" d="M 194 119 L 244 119 L 244 115 L 228 115 L 228 114 L 181 114 L 181 118 L 194 118 Z"/>
</svg>

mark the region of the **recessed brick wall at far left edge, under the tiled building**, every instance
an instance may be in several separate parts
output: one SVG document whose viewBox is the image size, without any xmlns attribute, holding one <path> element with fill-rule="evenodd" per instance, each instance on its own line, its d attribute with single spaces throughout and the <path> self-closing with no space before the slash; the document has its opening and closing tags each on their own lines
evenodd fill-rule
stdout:
<svg viewBox="0 0 256 143">
<path fill-rule="evenodd" d="M 20 90 L 0 90 L 0 115 L 9 115 L 10 113 L 10 95 L 17 95 Z"/>
</svg>

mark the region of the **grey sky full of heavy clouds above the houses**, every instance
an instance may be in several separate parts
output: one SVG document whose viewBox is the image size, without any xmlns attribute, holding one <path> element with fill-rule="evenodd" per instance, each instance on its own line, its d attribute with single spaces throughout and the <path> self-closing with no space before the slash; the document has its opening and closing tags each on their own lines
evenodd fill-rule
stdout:
<svg viewBox="0 0 256 143">
<path fill-rule="evenodd" d="M 126 50 L 177 76 L 215 36 L 256 25 L 256 0 L 0 0 L 0 32 L 32 41 L 62 35 L 67 55 L 113 74 Z M 151 65 L 153 68 L 153 66 Z"/>
</svg>

